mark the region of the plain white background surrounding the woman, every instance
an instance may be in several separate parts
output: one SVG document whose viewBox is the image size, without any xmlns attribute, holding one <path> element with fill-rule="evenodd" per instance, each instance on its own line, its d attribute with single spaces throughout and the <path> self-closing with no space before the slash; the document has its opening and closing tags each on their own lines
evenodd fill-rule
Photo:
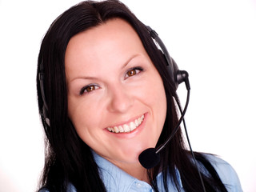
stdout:
<svg viewBox="0 0 256 192">
<path fill-rule="evenodd" d="M 37 187 L 43 166 L 36 66 L 40 42 L 78 1 L 0 0 L 0 191 Z M 256 191 L 255 0 L 123 0 L 190 73 L 186 114 L 194 150 L 220 155 Z M 178 93 L 185 101 L 186 89 Z"/>
</svg>

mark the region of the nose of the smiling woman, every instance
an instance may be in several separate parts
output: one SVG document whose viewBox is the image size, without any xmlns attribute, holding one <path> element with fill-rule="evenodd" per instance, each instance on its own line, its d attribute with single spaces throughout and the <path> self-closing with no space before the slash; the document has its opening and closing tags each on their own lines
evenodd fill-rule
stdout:
<svg viewBox="0 0 256 192">
<path fill-rule="evenodd" d="M 108 110 L 113 113 L 126 113 L 134 105 L 132 90 L 122 85 L 109 87 Z"/>
</svg>

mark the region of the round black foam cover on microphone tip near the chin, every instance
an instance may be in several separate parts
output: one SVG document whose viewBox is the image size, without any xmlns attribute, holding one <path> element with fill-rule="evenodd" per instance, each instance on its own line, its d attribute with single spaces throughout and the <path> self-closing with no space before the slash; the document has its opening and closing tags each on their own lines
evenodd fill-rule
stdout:
<svg viewBox="0 0 256 192">
<path fill-rule="evenodd" d="M 148 148 L 143 150 L 138 156 L 138 161 L 146 169 L 153 168 L 160 162 L 160 155 L 156 153 L 155 148 Z"/>
</svg>

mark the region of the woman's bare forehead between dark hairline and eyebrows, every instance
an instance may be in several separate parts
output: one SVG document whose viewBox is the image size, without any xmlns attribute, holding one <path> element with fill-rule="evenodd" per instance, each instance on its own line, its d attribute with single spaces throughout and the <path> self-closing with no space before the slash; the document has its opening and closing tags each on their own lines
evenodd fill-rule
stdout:
<svg viewBox="0 0 256 192">
<path fill-rule="evenodd" d="M 65 66 L 72 72 L 82 73 L 84 67 L 94 71 L 104 69 L 106 63 L 122 65 L 135 54 L 146 54 L 138 34 L 121 18 L 114 18 L 90 30 L 76 34 L 66 48 Z M 74 71 L 75 70 L 75 71 Z"/>
</svg>

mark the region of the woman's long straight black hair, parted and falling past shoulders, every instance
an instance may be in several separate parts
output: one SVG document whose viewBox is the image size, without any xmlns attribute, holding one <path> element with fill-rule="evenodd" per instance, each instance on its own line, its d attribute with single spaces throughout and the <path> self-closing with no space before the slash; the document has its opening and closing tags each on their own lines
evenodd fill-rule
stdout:
<svg viewBox="0 0 256 192">
<path fill-rule="evenodd" d="M 170 74 L 166 70 L 166 60 L 150 38 L 146 26 L 122 2 L 117 0 L 86 1 L 71 7 L 52 23 L 42 40 L 38 55 L 38 108 L 46 134 L 46 159 L 40 187 L 45 186 L 50 191 L 66 191 L 69 183 L 72 183 L 77 191 L 106 191 L 90 147 L 78 137 L 68 117 L 65 54 L 66 46 L 75 34 L 90 30 L 111 18 L 122 18 L 130 23 L 162 77 L 166 91 L 167 112 L 166 122 L 157 146 L 166 141 L 178 122 L 174 104 L 174 98 L 178 99 L 178 96 L 174 82 L 171 82 Z M 43 118 L 44 102 L 39 72 L 44 74 L 43 90 L 50 126 Z M 208 171 L 207 175 L 202 174 L 206 190 L 226 191 L 210 162 L 202 154 L 196 153 L 195 156 Z M 159 165 L 148 170 L 150 183 L 154 190 L 158 191 L 156 176 L 162 171 L 166 191 L 168 191 L 167 182 L 170 178 L 180 191 L 176 169 L 180 173 L 182 187 L 185 191 L 202 191 L 198 170 L 191 161 L 190 153 L 186 150 L 181 130 L 178 130 L 170 144 L 162 150 Z"/>
</svg>

